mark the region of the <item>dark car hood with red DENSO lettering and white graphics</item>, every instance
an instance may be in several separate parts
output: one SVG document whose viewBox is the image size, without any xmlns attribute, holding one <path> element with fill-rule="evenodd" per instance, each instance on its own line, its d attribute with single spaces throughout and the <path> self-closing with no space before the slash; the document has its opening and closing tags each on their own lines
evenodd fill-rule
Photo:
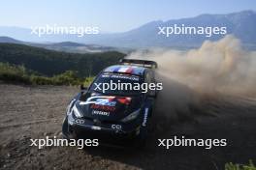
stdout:
<svg viewBox="0 0 256 170">
<path fill-rule="evenodd" d="M 84 118 L 118 121 L 142 105 L 142 96 L 122 97 L 88 93 L 75 104 Z"/>
</svg>

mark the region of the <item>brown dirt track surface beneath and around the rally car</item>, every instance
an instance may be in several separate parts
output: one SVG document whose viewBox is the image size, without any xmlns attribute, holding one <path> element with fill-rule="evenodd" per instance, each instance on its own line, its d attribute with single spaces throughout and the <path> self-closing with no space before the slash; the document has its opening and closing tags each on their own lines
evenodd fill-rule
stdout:
<svg viewBox="0 0 256 170">
<path fill-rule="evenodd" d="M 79 89 L 0 84 L 0 169 L 223 169 L 256 159 L 256 99 L 205 99 L 193 119 L 175 123 L 155 113 L 142 151 L 30 147 L 30 138 L 61 136 L 69 99 Z M 204 112 L 208 113 L 205 114 Z M 157 147 L 158 138 L 227 138 L 227 147 Z"/>
</svg>

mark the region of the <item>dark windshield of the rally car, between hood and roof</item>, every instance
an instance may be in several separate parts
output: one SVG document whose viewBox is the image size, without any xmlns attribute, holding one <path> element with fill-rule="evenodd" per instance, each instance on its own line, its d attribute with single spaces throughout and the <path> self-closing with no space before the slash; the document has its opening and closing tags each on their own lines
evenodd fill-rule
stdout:
<svg viewBox="0 0 256 170">
<path fill-rule="evenodd" d="M 142 77 L 125 73 L 104 72 L 91 85 L 90 92 L 99 92 L 109 95 L 140 95 Z"/>
</svg>

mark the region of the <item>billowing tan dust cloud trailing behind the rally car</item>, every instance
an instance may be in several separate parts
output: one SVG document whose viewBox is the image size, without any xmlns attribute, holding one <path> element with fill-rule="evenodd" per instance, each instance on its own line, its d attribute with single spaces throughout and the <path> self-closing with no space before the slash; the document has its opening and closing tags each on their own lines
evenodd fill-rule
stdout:
<svg viewBox="0 0 256 170">
<path fill-rule="evenodd" d="M 244 50 L 231 35 L 206 41 L 198 49 L 154 48 L 127 57 L 158 63 L 156 77 L 163 90 L 157 98 L 157 111 L 174 120 L 191 117 L 194 108 L 209 96 L 256 94 L 256 51 Z"/>
</svg>

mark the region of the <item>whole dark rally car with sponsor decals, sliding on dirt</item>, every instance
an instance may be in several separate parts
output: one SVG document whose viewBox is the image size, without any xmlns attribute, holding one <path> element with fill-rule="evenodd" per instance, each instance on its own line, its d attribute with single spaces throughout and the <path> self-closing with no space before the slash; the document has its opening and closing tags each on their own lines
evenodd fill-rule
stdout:
<svg viewBox="0 0 256 170">
<path fill-rule="evenodd" d="M 157 90 L 106 90 L 101 83 L 156 83 L 157 63 L 146 60 L 122 59 L 119 65 L 101 71 L 88 89 L 70 101 L 63 121 L 65 138 L 97 138 L 100 145 L 145 143 Z"/>
</svg>

